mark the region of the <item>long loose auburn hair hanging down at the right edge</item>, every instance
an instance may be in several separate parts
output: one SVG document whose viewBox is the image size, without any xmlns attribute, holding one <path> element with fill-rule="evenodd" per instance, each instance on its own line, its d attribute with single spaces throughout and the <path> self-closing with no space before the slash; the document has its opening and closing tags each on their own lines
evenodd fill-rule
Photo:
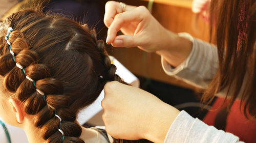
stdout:
<svg viewBox="0 0 256 143">
<path fill-rule="evenodd" d="M 229 108 L 240 98 L 244 115 L 256 118 L 256 1 L 211 0 L 210 25 L 211 39 L 218 47 L 219 69 L 202 101 L 209 103 L 218 92 L 226 91 Z"/>
</svg>

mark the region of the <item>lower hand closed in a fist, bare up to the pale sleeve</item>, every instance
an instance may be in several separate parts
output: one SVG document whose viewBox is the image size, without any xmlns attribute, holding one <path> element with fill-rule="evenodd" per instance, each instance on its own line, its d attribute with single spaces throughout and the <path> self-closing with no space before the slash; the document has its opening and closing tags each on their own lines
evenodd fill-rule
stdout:
<svg viewBox="0 0 256 143">
<path fill-rule="evenodd" d="M 112 81 L 101 102 L 106 131 L 115 138 L 163 142 L 179 110 L 141 89 Z"/>
</svg>

